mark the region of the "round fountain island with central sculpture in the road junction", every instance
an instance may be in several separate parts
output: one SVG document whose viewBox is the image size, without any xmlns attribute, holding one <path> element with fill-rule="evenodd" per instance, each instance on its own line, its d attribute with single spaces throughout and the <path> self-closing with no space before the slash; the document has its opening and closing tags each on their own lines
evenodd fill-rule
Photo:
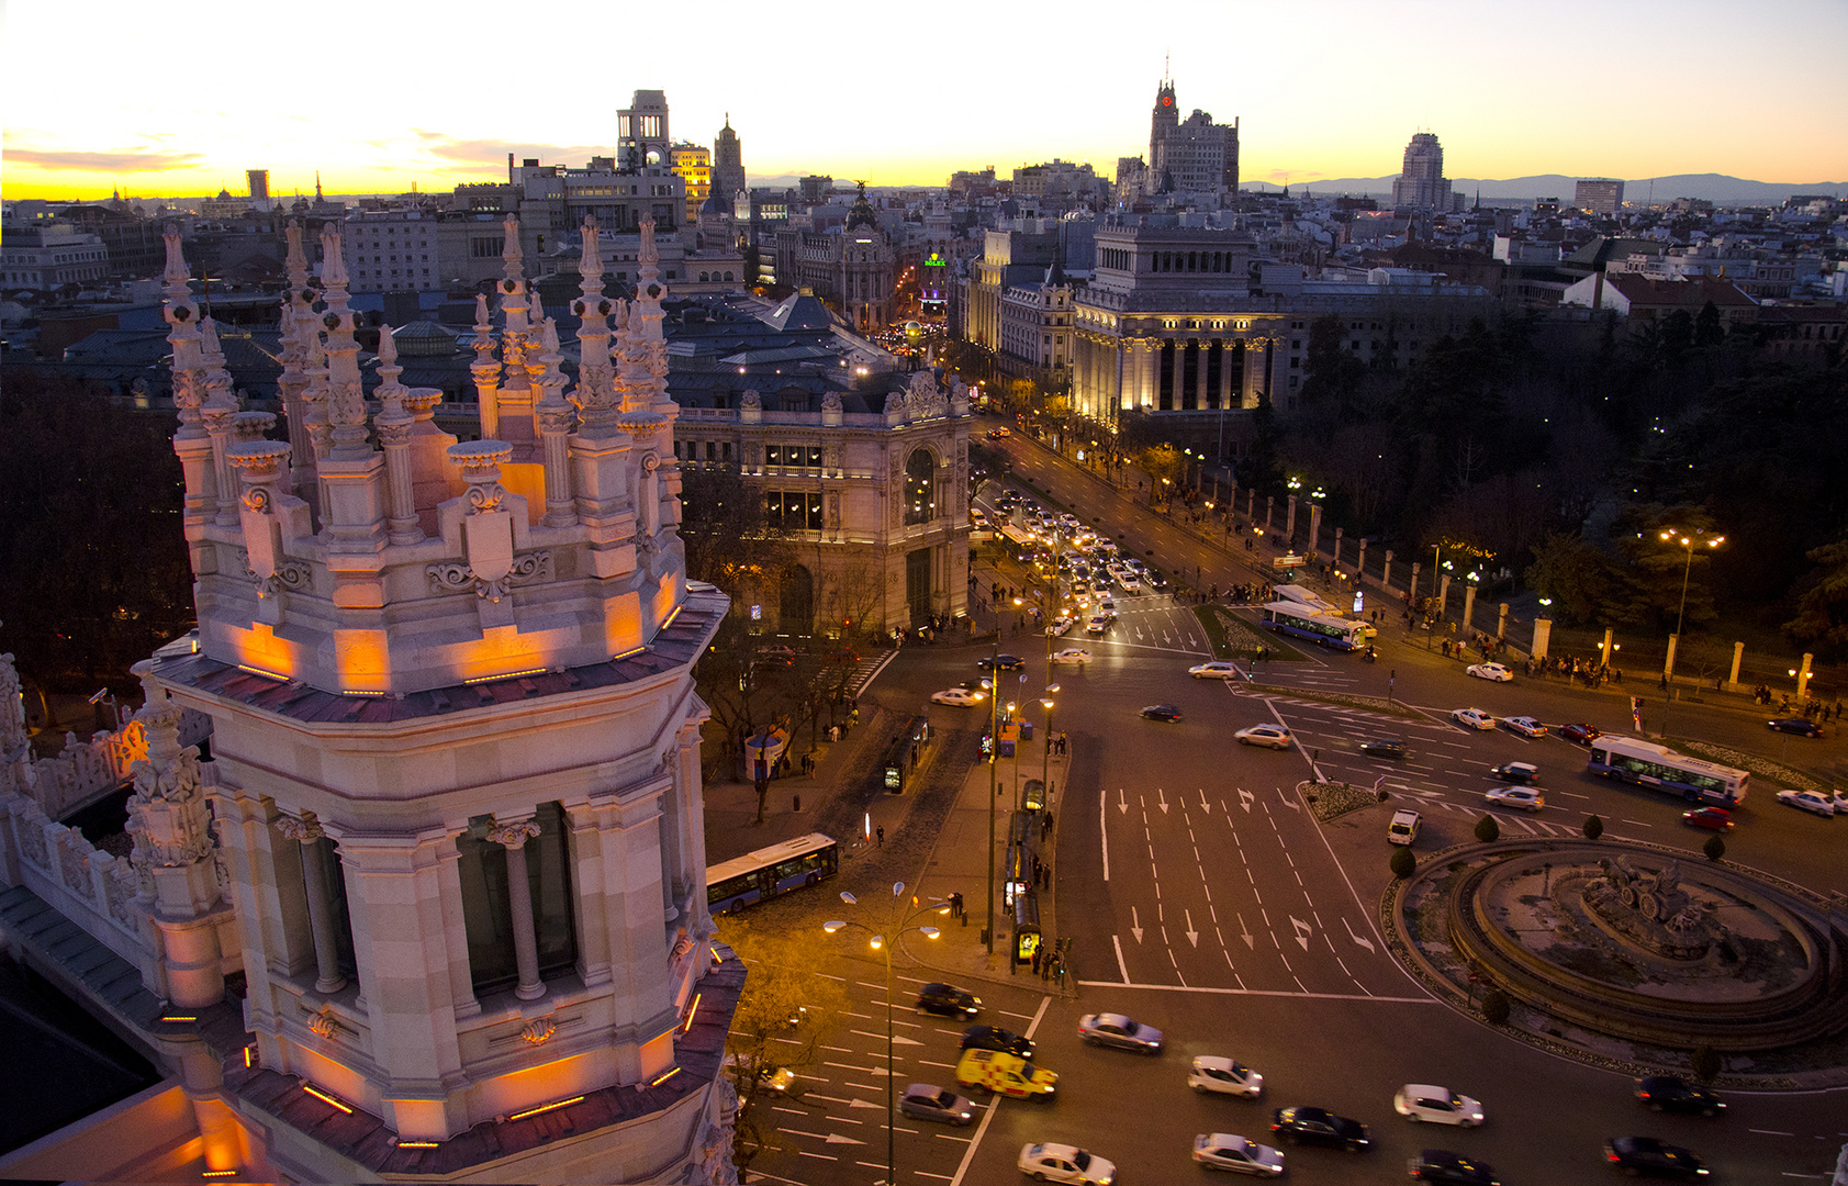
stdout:
<svg viewBox="0 0 1848 1186">
<path fill-rule="evenodd" d="M 1427 988 L 1586 1062 L 1733 1086 L 1848 1083 L 1848 916 L 1789 883 L 1641 842 L 1523 839 L 1425 857 L 1382 898 Z M 1499 1012 L 1499 1009 L 1497 1009 Z"/>
</svg>

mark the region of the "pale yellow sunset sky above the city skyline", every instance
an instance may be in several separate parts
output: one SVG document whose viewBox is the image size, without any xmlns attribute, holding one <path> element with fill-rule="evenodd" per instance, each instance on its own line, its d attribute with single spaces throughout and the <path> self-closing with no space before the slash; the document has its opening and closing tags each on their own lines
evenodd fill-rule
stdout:
<svg viewBox="0 0 1848 1186">
<path fill-rule="evenodd" d="M 554 11 L 15 0 L 0 194 L 242 194 L 246 168 L 272 194 L 316 170 L 331 194 L 447 190 L 508 151 L 610 153 L 636 89 L 667 92 L 675 139 L 711 144 L 730 113 L 752 179 L 942 185 L 1053 157 L 1114 175 L 1148 150 L 1164 55 L 1183 113 L 1240 118 L 1247 183 L 1397 174 L 1421 129 L 1451 177 L 1848 181 L 1842 0 Z"/>
</svg>

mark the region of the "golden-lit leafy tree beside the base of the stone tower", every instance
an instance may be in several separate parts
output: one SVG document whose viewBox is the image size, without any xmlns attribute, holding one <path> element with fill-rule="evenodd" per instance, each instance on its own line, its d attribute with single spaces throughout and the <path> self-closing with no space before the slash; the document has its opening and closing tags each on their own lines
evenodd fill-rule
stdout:
<svg viewBox="0 0 1848 1186">
<path fill-rule="evenodd" d="M 813 970 L 817 937 L 754 927 L 726 916 L 723 938 L 745 961 L 745 992 L 724 1038 L 724 1060 L 737 1088 L 732 1160 L 745 1177 L 752 1160 L 780 1149 L 769 1116 L 778 1070 L 804 1071 L 821 1060 L 822 1038 L 846 1014 L 846 990 Z"/>
</svg>

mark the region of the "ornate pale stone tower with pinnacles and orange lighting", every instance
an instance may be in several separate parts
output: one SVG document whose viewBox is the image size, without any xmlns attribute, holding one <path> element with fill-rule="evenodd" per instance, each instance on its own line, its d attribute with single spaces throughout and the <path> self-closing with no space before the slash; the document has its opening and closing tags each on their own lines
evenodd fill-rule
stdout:
<svg viewBox="0 0 1848 1186">
<path fill-rule="evenodd" d="M 469 443 L 390 331 L 362 390 L 334 227 L 320 281 L 290 231 L 264 440 L 166 242 L 200 632 L 142 665 L 131 829 L 163 988 L 213 1025 L 196 1099 L 296 1180 L 732 1180 L 691 674 L 726 600 L 684 575 L 652 224 L 634 301 L 584 227 L 575 386 L 506 224 Z"/>
</svg>

